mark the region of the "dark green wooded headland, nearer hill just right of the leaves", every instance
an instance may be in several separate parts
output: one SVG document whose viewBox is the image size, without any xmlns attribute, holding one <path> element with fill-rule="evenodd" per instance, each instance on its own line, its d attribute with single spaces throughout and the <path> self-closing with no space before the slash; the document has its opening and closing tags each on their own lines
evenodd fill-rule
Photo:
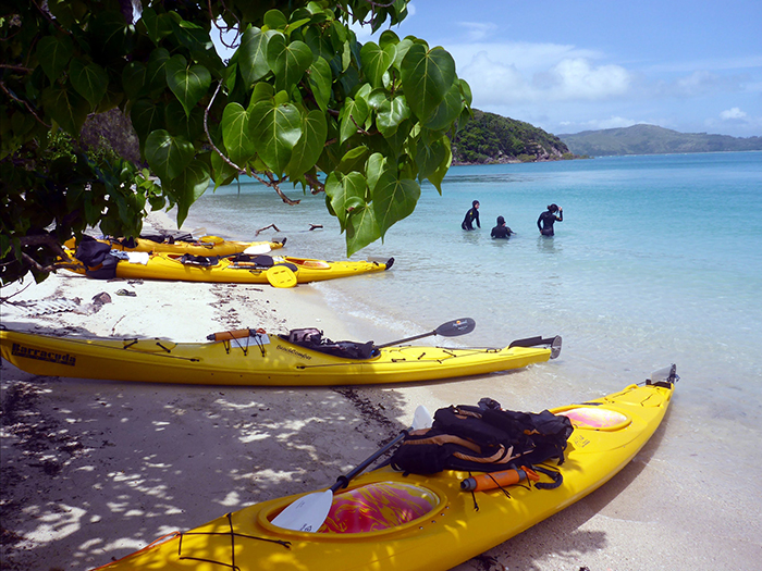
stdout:
<svg viewBox="0 0 762 571">
<path fill-rule="evenodd" d="M 455 163 L 508 163 L 573 159 L 555 135 L 529 123 L 474 110 L 453 140 Z"/>
</svg>

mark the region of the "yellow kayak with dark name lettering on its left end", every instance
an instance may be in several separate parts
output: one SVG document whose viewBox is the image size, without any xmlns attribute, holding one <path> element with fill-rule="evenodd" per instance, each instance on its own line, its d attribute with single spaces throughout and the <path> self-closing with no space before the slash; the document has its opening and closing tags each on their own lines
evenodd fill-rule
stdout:
<svg viewBox="0 0 762 571">
<path fill-rule="evenodd" d="M 210 337 L 217 340 L 87 339 L 1 330 L 0 349 L 3 359 L 38 375 L 253 386 L 433 381 L 523 368 L 561 351 L 561 337 L 521 339 L 503 349 L 292 343 L 293 332 L 269 335 L 262 330 Z"/>
</svg>

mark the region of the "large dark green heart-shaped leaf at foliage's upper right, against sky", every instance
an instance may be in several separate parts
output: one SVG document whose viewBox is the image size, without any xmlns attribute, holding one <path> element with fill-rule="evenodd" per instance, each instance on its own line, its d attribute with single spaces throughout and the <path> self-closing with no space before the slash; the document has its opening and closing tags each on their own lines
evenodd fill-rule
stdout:
<svg viewBox="0 0 762 571">
<path fill-rule="evenodd" d="M 455 61 L 442 48 L 415 44 L 402 61 L 402 86 L 414 113 L 427 121 L 456 79 Z"/>
</svg>

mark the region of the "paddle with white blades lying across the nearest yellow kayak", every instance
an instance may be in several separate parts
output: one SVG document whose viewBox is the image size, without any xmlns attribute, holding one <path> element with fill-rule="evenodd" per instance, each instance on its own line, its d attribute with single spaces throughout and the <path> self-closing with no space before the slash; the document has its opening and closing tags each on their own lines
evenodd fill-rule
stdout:
<svg viewBox="0 0 762 571">
<path fill-rule="evenodd" d="M 388 452 L 402 442 L 409 431 L 428 429 L 431 426 L 431 423 L 432 420 L 429 411 L 426 410 L 426 407 L 422 405 L 419 406 L 413 415 L 413 426 L 402 431 L 392 442 L 382 446 L 372 456 L 360 462 L 352 472 L 339 476 L 336 483 L 325 492 L 308 494 L 294 501 L 272 520 L 272 524 L 285 530 L 317 532 L 325 521 L 325 518 L 328 518 L 334 492 L 348 486 L 351 480 L 373 463 L 381 455 Z"/>
</svg>

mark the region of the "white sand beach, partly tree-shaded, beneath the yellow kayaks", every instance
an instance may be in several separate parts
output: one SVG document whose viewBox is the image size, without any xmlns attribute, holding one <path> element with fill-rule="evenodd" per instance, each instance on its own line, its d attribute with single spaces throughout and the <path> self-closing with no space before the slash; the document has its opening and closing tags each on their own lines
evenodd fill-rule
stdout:
<svg viewBox="0 0 762 571">
<path fill-rule="evenodd" d="M 60 272 L 1 295 L 14 291 L 2 324 L 39 333 L 179 342 L 239 327 L 317 326 L 357 340 L 378 334 L 331 311 L 309 285 L 101 282 Z M 110 301 L 94 305 L 101 293 Z M 561 405 L 531 389 L 554 367 L 420 386 L 261 388 L 40 377 L 3 361 L 2 568 L 91 569 L 226 511 L 330 485 L 408 425 L 419 404 L 432 412 L 482 396 L 520 410 Z M 712 532 L 695 521 L 703 486 L 667 485 L 662 461 L 651 461 L 665 430 L 601 489 L 456 569 L 730 569 L 729 553 L 752 560 L 758 547 L 742 538 L 723 537 L 721 553 L 698 541 Z M 668 517 L 641 505 L 654 495 Z"/>
</svg>

